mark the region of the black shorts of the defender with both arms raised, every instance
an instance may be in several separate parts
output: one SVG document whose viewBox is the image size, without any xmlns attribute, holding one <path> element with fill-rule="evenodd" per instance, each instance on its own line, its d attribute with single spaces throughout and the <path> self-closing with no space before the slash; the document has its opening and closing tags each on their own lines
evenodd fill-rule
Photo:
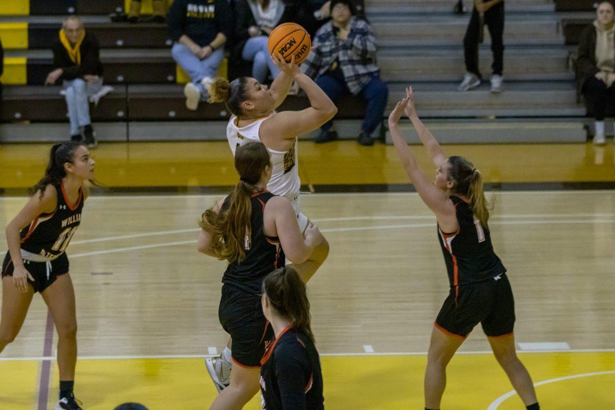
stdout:
<svg viewBox="0 0 615 410">
<path fill-rule="evenodd" d="M 480 323 L 489 337 L 507 336 L 515 326 L 515 301 L 506 274 L 451 288 L 435 326 L 465 339 Z"/>
</svg>

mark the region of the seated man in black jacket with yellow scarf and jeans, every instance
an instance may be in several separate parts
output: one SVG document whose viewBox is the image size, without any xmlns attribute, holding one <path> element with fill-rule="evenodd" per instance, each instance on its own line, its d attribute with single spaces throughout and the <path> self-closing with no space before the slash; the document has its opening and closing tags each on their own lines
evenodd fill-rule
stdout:
<svg viewBox="0 0 615 410">
<path fill-rule="evenodd" d="M 86 33 L 77 17 L 68 17 L 62 24 L 60 36 L 54 44 L 54 71 L 47 75 L 46 85 L 62 80 L 62 94 L 68 106 L 71 125 L 71 140 L 82 141 L 88 147 L 96 146 L 96 138 L 90 121 L 89 102 L 111 91 L 103 87 L 103 65 L 98 55 L 98 41 Z M 81 135 L 83 127 L 83 136 Z"/>
</svg>

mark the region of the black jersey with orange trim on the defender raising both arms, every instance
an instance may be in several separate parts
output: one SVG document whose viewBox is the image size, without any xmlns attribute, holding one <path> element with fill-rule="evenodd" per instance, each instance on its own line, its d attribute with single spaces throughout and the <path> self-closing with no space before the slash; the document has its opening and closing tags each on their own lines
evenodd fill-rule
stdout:
<svg viewBox="0 0 615 410">
<path fill-rule="evenodd" d="M 506 272 L 506 267 L 493 251 L 488 227 L 475 218 L 470 206 L 459 197 L 451 196 L 459 229 L 446 233 L 438 226 L 448 280 L 451 286 L 482 282 Z"/>
</svg>

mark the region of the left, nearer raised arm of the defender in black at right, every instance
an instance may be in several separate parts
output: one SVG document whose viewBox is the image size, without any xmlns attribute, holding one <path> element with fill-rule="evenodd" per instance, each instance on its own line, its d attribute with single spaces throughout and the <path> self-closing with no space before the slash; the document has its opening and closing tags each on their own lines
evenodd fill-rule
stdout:
<svg viewBox="0 0 615 410">
<path fill-rule="evenodd" d="M 397 124 L 409 102 L 410 97 L 399 101 L 389 116 L 389 130 L 395 144 L 395 150 L 402 161 L 402 166 L 408 174 L 408 178 L 410 178 L 410 182 L 415 186 L 416 192 L 427 207 L 435 213 L 438 224 L 442 229 L 446 229 L 446 232 L 452 232 L 456 230 L 455 225 L 457 224 L 453 202 L 448 198 L 446 192 L 435 187 L 419 168 L 416 158 L 408 148 L 408 143 L 403 138 Z"/>
</svg>

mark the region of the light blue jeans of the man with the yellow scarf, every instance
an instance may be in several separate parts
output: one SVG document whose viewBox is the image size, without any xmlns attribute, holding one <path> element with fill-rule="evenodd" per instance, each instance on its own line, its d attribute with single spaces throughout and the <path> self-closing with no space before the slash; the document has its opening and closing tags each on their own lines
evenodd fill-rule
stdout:
<svg viewBox="0 0 615 410">
<path fill-rule="evenodd" d="M 74 80 L 65 80 L 64 98 L 66 106 L 68 106 L 68 119 L 71 124 L 71 135 L 81 133 L 79 127 L 90 125 L 90 103 L 89 95 L 95 94 L 103 85 L 103 80 L 89 83 L 81 78 Z"/>
</svg>

